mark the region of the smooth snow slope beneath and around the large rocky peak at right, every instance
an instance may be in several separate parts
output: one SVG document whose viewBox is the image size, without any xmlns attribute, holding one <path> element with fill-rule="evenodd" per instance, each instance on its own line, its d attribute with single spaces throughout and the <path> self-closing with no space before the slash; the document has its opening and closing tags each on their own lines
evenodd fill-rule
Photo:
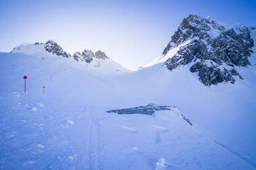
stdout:
<svg viewBox="0 0 256 170">
<path fill-rule="evenodd" d="M 255 29 L 250 32 L 254 42 L 255 32 Z M 181 43 L 181 46 L 184 46 L 184 43 Z M 248 57 L 251 65 L 236 66 L 243 80 L 235 77 L 234 85 L 220 83 L 211 87 L 206 87 L 198 81 L 196 74 L 189 71 L 193 62 L 172 71 L 166 69 L 164 62 L 177 52 L 175 48 L 154 60 L 150 64 L 153 66 L 123 77 L 122 81 L 133 81 L 136 85 L 125 86 L 126 81 L 122 87 L 128 92 L 133 90 L 134 99 L 140 100 L 141 105 L 172 103 L 194 123 L 198 131 L 256 167 L 255 44 Z M 228 67 L 224 64 L 222 66 Z"/>
</svg>

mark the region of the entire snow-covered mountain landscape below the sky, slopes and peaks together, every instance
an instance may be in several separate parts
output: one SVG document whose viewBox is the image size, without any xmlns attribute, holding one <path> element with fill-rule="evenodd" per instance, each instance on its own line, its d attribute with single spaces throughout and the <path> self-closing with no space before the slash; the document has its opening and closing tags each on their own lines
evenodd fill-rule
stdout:
<svg viewBox="0 0 256 170">
<path fill-rule="evenodd" d="M 255 169 L 256 30 L 179 29 L 134 72 L 54 41 L 0 53 L 0 169 Z"/>
</svg>

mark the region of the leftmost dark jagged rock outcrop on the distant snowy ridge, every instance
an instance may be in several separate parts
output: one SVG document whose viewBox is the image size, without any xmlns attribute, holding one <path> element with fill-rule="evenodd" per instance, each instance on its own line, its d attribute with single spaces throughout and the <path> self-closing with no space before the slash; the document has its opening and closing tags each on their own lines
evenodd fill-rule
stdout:
<svg viewBox="0 0 256 170">
<path fill-rule="evenodd" d="M 64 52 L 62 50 L 62 48 L 55 42 L 52 40 L 49 40 L 45 43 L 45 51 L 55 54 L 55 55 L 61 55 L 63 57 L 68 57 L 67 52 Z"/>
</svg>

